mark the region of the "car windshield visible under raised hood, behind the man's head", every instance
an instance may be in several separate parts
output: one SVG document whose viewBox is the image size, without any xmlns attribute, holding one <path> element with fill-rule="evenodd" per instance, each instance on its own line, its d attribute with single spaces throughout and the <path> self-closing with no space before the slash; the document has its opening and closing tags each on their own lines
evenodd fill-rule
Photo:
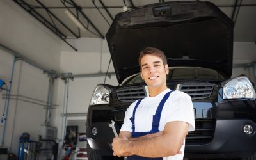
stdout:
<svg viewBox="0 0 256 160">
<path fill-rule="evenodd" d="M 224 81 L 227 79 L 224 75 L 216 70 L 198 67 L 170 68 L 167 81 L 182 80 L 208 80 L 208 81 Z M 131 77 L 125 84 L 143 83 L 140 74 Z"/>
</svg>

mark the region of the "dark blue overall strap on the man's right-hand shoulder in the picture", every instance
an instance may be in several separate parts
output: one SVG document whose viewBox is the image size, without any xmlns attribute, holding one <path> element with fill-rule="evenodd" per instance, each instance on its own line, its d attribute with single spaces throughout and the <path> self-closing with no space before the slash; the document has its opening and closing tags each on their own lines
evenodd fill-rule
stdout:
<svg viewBox="0 0 256 160">
<path fill-rule="evenodd" d="M 166 100 L 168 99 L 168 97 L 170 96 L 170 94 L 172 93 L 172 90 L 170 92 L 167 92 L 163 99 L 161 100 L 161 102 L 159 103 L 157 110 L 156 110 L 156 114 L 153 116 L 153 122 L 152 122 L 152 129 L 150 132 L 159 132 L 159 122 L 160 122 L 160 118 L 161 118 L 161 113 L 164 107 L 164 104 L 166 102 Z"/>
</svg>

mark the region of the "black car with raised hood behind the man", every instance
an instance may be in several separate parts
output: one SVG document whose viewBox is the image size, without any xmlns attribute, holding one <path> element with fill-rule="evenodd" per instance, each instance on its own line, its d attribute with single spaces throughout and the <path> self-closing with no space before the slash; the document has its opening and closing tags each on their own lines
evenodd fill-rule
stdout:
<svg viewBox="0 0 256 160">
<path fill-rule="evenodd" d="M 99 84 L 88 108 L 89 159 L 113 157 L 114 137 L 125 111 L 147 96 L 138 56 L 145 47 L 168 58 L 167 84 L 191 96 L 196 129 L 186 136 L 184 157 L 256 159 L 255 88 L 232 75 L 234 24 L 214 4 L 179 1 L 150 4 L 118 13 L 106 38 L 119 86 Z"/>
</svg>

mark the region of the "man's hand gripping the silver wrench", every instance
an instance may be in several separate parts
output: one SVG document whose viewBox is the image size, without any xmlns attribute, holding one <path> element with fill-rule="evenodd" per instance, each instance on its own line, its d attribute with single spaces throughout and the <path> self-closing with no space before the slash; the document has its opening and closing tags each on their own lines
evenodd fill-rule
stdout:
<svg viewBox="0 0 256 160">
<path fill-rule="evenodd" d="M 114 151 L 113 155 L 118 157 L 131 156 L 131 154 L 129 154 L 125 150 L 128 143 L 129 143 L 129 140 L 126 137 L 114 138 L 112 143 L 112 149 Z"/>
</svg>

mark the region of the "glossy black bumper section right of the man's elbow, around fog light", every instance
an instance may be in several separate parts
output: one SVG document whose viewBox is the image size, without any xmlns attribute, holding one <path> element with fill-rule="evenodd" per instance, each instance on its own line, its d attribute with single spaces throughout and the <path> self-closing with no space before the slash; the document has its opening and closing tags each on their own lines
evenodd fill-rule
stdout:
<svg viewBox="0 0 256 160">
<path fill-rule="evenodd" d="M 250 124 L 253 133 L 248 135 L 243 126 Z M 256 124 L 252 120 L 216 120 L 214 137 L 205 144 L 186 144 L 185 157 L 243 157 L 256 150 Z"/>
</svg>

